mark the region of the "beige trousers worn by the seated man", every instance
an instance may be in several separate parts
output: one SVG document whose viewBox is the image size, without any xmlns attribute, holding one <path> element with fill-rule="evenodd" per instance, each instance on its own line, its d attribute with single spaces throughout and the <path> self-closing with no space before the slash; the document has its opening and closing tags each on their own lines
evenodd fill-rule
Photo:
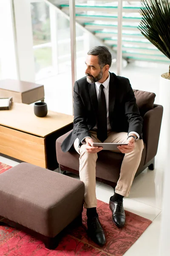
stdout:
<svg viewBox="0 0 170 256">
<path fill-rule="evenodd" d="M 90 131 L 91 137 L 94 142 L 101 142 L 97 139 L 96 131 Z M 104 141 L 105 143 L 125 143 L 127 140 L 126 132 L 108 132 L 108 138 Z M 74 148 L 80 154 L 79 157 L 79 177 L 85 183 L 85 197 L 84 197 L 84 207 L 91 208 L 96 207 L 96 160 L 97 153 L 89 154 L 85 150 L 85 144 L 80 147 L 79 139 L 74 141 Z M 135 148 L 131 153 L 126 153 L 122 166 L 120 169 L 120 177 L 115 188 L 115 192 L 119 195 L 128 196 L 130 188 L 136 171 L 139 167 L 141 161 L 142 151 L 144 148 L 143 140 L 136 140 Z M 120 152 L 118 150 L 118 152 Z"/>
</svg>

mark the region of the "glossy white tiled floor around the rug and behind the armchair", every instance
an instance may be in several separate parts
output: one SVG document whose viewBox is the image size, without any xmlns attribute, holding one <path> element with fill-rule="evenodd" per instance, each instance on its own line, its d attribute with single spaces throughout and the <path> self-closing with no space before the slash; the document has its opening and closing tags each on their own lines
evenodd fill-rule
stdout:
<svg viewBox="0 0 170 256">
<path fill-rule="evenodd" d="M 155 65 L 151 67 L 137 67 L 130 64 L 123 69 L 122 76 L 130 79 L 133 88 L 139 90 L 152 91 L 157 94 L 156 103 L 158 103 L 159 94 L 159 75 L 165 73 L 167 66 Z M 112 70 L 115 67 L 113 65 Z M 79 73 L 79 78 L 84 76 Z M 68 83 L 63 83 L 67 79 Z M 40 81 L 39 81 L 40 82 Z M 64 74 L 51 77 L 45 81 L 45 101 L 48 103 L 48 109 L 70 113 L 71 95 L 70 84 L 71 76 Z M 66 105 L 65 102 L 68 102 Z M 156 168 L 154 171 L 146 169 L 138 177 L 135 178 L 129 198 L 124 199 L 124 207 L 130 212 L 134 212 L 144 218 L 150 219 L 152 224 L 144 231 L 142 236 L 133 244 L 125 253 L 125 256 L 159 256 L 159 233 L 161 227 L 161 209 L 162 209 L 162 189 L 163 189 L 163 168 L 161 154 L 164 147 L 159 143 L 158 153 L 156 155 Z M 10 166 L 18 163 L 0 156 L 0 162 Z M 74 174 L 69 174 L 76 177 Z M 113 189 L 105 184 L 96 183 L 97 199 L 108 203 L 109 198 L 113 195 Z M 167 254 L 168 255 L 168 254 Z"/>
</svg>

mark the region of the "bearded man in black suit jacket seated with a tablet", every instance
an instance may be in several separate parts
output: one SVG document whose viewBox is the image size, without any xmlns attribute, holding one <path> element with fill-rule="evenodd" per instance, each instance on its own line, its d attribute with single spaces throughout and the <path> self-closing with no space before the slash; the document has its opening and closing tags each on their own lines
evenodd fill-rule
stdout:
<svg viewBox="0 0 170 256">
<path fill-rule="evenodd" d="M 80 154 L 79 176 L 85 183 L 88 235 L 101 246 L 106 240 L 96 212 L 96 160 L 102 147 L 94 147 L 93 143 L 128 143 L 118 146 L 125 156 L 109 201 L 118 227 L 125 225 L 123 197 L 129 195 L 143 150 L 142 117 L 133 90 L 127 78 L 109 72 L 111 62 L 107 47 L 94 47 L 88 52 L 86 76 L 74 84 L 74 128 L 62 143 L 62 151 L 74 145 Z"/>
</svg>

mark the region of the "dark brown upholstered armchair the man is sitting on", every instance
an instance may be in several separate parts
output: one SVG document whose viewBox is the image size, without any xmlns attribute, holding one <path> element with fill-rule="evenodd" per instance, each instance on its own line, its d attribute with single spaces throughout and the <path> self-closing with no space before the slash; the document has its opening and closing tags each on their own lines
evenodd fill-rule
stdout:
<svg viewBox="0 0 170 256">
<path fill-rule="evenodd" d="M 161 119 L 163 107 L 154 104 L 155 93 L 133 90 L 136 97 L 136 103 L 139 106 L 139 111 L 143 117 L 143 141 L 144 150 L 142 159 L 136 175 L 139 175 L 147 167 L 150 170 L 154 169 L 154 159 L 158 149 L 159 134 L 161 129 Z M 59 137 L 56 141 L 57 162 L 59 163 L 59 171 L 65 171 L 79 174 L 79 154 L 72 148 L 64 153 L 61 150 L 62 141 L 68 136 L 68 133 Z M 116 186 L 119 179 L 120 168 L 124 154 L 111 151 L 100 151 L 96 162 L 96 180 Z"/>
</svg>

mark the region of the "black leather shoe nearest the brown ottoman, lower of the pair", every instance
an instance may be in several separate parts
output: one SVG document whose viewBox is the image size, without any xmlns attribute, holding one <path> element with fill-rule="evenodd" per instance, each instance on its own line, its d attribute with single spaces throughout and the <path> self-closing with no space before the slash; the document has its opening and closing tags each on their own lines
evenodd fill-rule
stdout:
<svg viewBox="0 0 170 256">
<path fill-rule="evenodd" d="M 98 215 L 96 217 L 88 218 L 87 225 L 87 233 L 91 240 L 100 246 L 104 245 L 106 239 Z"/>
</svg>

